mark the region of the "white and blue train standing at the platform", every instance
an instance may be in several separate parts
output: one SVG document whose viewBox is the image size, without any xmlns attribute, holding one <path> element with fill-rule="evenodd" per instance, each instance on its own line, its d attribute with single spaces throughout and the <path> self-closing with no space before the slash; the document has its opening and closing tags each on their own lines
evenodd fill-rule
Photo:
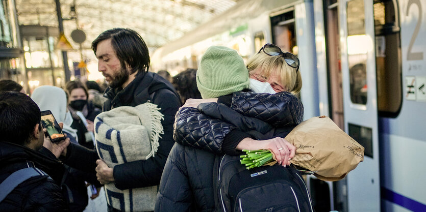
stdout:
<svg viewBox="0 0 426 212">
<path fill-rule="evenodd" d="M 265 43 L 300 59 L 305 119 L 327 115 L 365 147 L 342 180 L 307 177 L 316 211 L 426 211 L 426 0 L 247 0 L 152 55 L 197 68 L 212 45 L 246 60 Z"/>
</svg>

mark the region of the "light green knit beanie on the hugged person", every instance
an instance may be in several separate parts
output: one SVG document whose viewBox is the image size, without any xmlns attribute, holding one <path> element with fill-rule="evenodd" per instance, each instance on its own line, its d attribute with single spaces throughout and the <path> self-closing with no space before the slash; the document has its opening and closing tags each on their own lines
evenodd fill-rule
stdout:
<svg viewBox="0 0 426 212">
<path fill-rule="evenodd" d="M 248 71 L 237 51 L 211 46 L 201 58 L 196 75 L 201 97 L 217 98 L 248 88 Z"/>
</svg>

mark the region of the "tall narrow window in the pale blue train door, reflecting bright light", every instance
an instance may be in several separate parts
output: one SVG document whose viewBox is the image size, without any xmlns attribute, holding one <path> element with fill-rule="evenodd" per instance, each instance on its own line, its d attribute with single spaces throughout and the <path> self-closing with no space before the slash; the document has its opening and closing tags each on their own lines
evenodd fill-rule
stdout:
<svg viewBox="0 0 426 212">
<path fill-rule="evenodd" d="M 355 104 L 367 103 L 366 61 L 368 38 L 365 35 L 364 1 L 347 3 L 347 55 L 349 65 L 350 100 Z"/>
</svg>

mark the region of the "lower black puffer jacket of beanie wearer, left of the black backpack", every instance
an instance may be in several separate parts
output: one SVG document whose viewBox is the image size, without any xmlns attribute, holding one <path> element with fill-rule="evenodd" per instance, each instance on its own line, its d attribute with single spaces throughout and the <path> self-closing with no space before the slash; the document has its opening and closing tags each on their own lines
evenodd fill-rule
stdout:
<svg viewBox="0 0 426 212">
<path fill-rule="evenodd" d="M 214 211 L 215 157 L 210 152 L 174 143 L 161 176 L 155 211 Z"/>
</svg>

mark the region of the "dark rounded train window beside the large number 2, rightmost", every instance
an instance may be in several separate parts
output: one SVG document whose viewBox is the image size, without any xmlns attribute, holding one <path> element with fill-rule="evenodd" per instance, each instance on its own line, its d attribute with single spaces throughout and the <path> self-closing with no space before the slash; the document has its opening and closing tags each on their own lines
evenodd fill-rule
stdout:
<svg viewBox="0 0 426 212">
<path fill-rule="evenodd" d="M 374 1 L 375 64 L 379 115 L 396 117 L 402 105 L 402 64 L 398 7 Z"/>
</svg>

